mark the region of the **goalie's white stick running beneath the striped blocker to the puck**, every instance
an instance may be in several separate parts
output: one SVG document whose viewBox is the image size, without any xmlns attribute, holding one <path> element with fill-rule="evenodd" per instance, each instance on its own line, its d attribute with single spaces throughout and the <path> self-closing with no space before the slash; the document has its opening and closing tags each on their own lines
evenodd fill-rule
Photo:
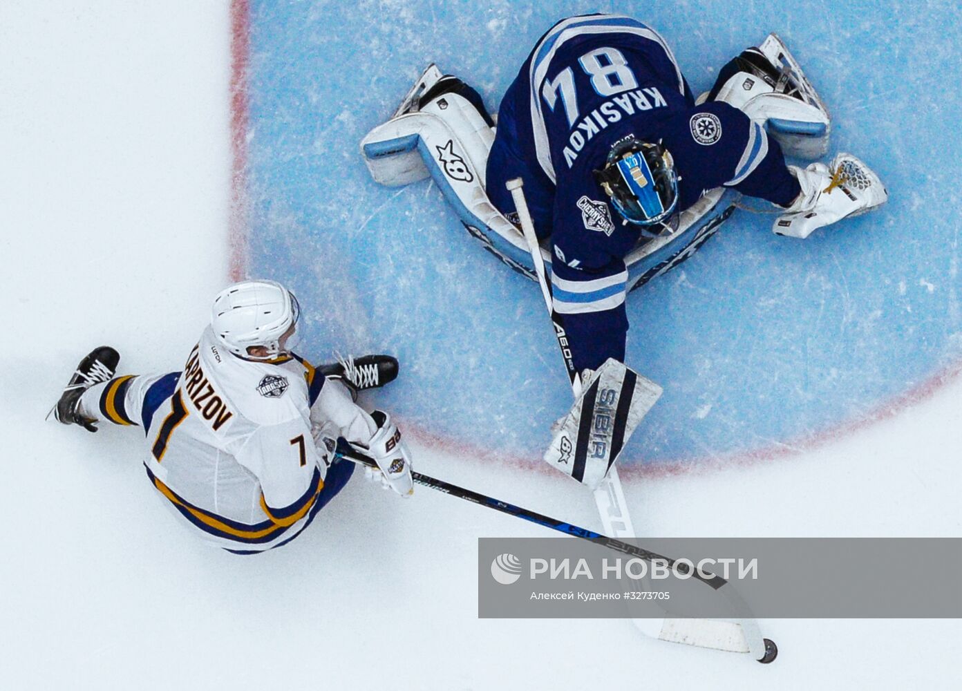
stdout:
<svg viewBox="0 0 962 691">
<path fill-rule="evenodd" d="M 531 261 L 534 263 L 538 283 L 542 289 L 544 304 L 551 317 L 551 323 L 554 325 L 555 337 L 558 339 L 558 347 L 561 349 L 562 356 L 565 359 L 565 366 L 571 382 L 571 391 L 575 399 L 577 399 L 581 395 L 581 376 L 574 367 L 574 362 L 570 355 L 570 348 L 568 347 L 568 337 L 561 324 L 560 317 L 554 310 L 554 304 L 551 299 L 551 289 L 548 286 L 547 278 L 544 274 L 544 258 L 541 254 L 541 246 L 535 234 L 534 223 L 528 211 L 522 186 L 523 181 L 520 178 L 513 178 L 505 184 L 505 187 L 511 192 L 511 196 L 514 199 L 515 209 L 518 212 L 521 225 L 521 232 L 524 235 L 525 241 L 528 243 Z M 618 467 L 614 463 L 611 464 L 608 473 L 595 487 L 592 494 L 595 498 L 595 505 L 601 517 L 601 523 L 604 526 L 605 533 L 612 538 L 635 538 L 635 528 L 631 523 L 631 517 L 628 515 L 624 492 L 621 490 Z M 551 526 L 549 525 L 549 527 Z M 619 541 L 616 540 L 616 542 Z M 733 591 L 734 588 L 729 587 L 727 589 L 727 592 Z M 735 597 L 741 600 L 737 594 L 735 594 Z M 678 619 L 666 616 L 662 619 L 633 619 L 632 623 L 642 633 L 652 638 L 731 653 L 752 653 L 760 662 L 771 662 L 772 659 L 774 659 L 774 655 L 777 654 L 777 649 L 774 648 L 772 641 L 767 638 L 762 638 L 757 623 L 750 618 L 740 619 L 735 622 L 724 622 L 708 619 Z M 774 653 L 770 652 L 770 645 Z M 769 658 L 770 654 L 771 658 Z"/>
</svg>

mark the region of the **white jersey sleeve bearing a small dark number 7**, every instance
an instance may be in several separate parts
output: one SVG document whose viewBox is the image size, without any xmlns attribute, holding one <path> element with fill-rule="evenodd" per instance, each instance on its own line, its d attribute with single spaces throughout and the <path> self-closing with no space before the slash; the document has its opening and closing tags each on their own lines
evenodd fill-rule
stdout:
<svg viewBox="0 0 962 691">
<path fill-rule="evenodd" d="M 283 516 L 300 506 L 323 481 L 325 466 L 303 420 L 261 425 L 236 458 L 257 476 L 271 515 Z"/>
</svg>

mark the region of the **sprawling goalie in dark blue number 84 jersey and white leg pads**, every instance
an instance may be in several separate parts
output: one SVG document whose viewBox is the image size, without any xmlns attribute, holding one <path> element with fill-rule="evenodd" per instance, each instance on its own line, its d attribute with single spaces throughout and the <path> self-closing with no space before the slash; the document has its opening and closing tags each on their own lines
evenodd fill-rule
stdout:
<svg viewBox="0 0 962 691">
<path fill-rule="evenodd" d="M 823 157 L 830 131 L 818 92 L 773 34 L 696 99 L 656 31 L 586 14 L 538 40 L 496 127 L 477 91 L 431 65 L 361 149 L 384 185 L 432 177 L 472 235 L 534 278 L 506 189 L 519 178 L 552 318 L 571 369 L 590 377 L 623 363 L 626 294 L 691 256 L 741 195 L 767 203 L 773 231 L 796 239 L 886 201 L 873 170 L 850 154 L 786 164 L 786 154 Z M 560 465 L 565 440 L 552 446 Z"/>
</svg>

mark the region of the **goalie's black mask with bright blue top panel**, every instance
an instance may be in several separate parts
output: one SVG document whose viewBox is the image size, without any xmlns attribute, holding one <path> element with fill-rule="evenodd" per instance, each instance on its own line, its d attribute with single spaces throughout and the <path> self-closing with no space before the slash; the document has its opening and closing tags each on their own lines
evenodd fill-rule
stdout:
<svg viewBox="0 0 962 691">
<path fill-rule="evenodd" d="M 650 237 L 673 232 L 678 225 L 678 175 L 668 149 L 634 137 L 616 141 L 595 182 L 629 223 Z"/>
</svg>

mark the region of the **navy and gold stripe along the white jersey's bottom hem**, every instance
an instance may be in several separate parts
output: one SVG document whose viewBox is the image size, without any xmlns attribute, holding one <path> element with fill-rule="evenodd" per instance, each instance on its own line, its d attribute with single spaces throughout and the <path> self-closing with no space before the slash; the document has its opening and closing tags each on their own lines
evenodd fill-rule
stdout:
<svg viewBox="0 0 962 691">
<path fill-rule="evenodd" d="M 317 495 L 324 488 L 324 480 L 320 471 L 315 469 L 308 490 L 290 506 L 283 509 L 268 509 L 262 496 L 261 507 L 265 510 L 267 520 L 258 524 L 244 524 L 194 506 L 187 499 L 178 496 L 167 487 L 150 469 L 144 466 L 147 476 L 154 483 L 154 487 L 174 505 L 174 508 L 191 524 L 215 537 L 233 540 L 246 544 L 263 544 L 276 540 L 287 532 L 291 525 L 296 524 L 307 516 L 315 505 Z"/>
</svg>

